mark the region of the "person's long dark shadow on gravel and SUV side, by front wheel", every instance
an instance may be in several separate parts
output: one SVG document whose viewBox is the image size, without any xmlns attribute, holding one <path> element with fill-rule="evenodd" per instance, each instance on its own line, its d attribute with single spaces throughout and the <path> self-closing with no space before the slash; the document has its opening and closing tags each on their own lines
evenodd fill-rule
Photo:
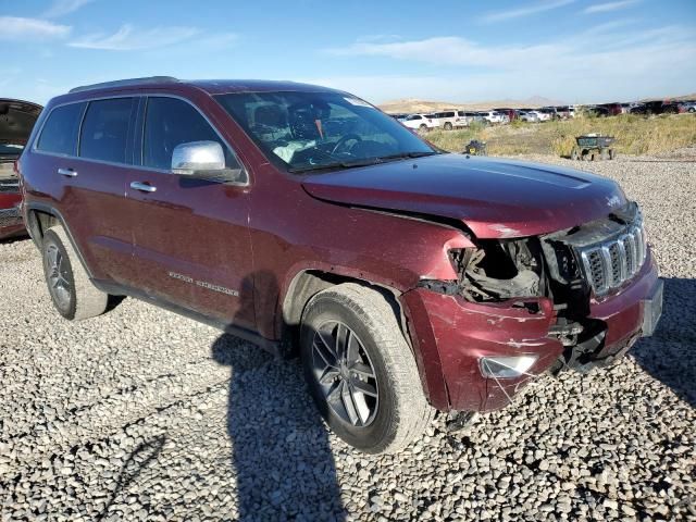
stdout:
<svg viewBox="0 0 696 522">
<path fill-rule="evenodd" d="M 272 274 L 252 274 L 241 287 L 248 285 L 260 285 L 261 299 L 275 302 Z M 253 302 L 240 304 L 240 316 L 253 316 Z M 299 360 L 281 359 L 227 334 L 215 340 L 212 357 L 232 372 L 227 433 L 238 520 L 345 520 L 327 427 Z"/>
</svg>

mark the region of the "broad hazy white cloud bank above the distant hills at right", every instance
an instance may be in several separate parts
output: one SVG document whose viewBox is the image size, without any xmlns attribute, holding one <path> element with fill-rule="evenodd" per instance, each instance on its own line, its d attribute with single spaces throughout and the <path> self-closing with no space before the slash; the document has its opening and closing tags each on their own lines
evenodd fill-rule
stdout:
<svg viewBox="0 0 696 522">
<path fill-rule="evenodd" d="M 457 36 L 363 42 L 325 52 L 413 64 L 414 74 L 314 78 L 370 100 L 418 97 L 450 101 L 540 95 L 569 102 L 631 100 L 693 91 L 696 35 L 679 26 L 635 30 L 632 21 L 526 46 L 485 46 Z M 579 60 L 579 57 L 583 57 Z M 419 63 L 438 66 L 419 74 Z M 389 70 L 388 62 L 383 65 Z M 432 71 L 432 70 L 431 70 Z"/>
</svg>

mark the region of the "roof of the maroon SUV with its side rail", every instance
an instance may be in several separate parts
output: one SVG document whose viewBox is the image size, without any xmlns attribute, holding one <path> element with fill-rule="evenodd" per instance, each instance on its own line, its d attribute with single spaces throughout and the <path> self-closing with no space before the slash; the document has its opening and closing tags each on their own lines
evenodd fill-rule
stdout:
<svg viewBox="0 0 696 522">
<path fill-rule="evenodd" d="M 299 92 L 337 92 L 344 91 L 322 87 L 319 85 L 301 84 L 289 80 L 270 79 L 178 79 L 172 76 L 149 76 L 144 78 L 126 78 L 114 82 L 83 85 L 71 89 L 67 94 L 57 99 L 82 99 L 95 95 L 108 95 L 114 91 L 127 90 L 130 94 L 139 89 L 161 89 L 186 91 L 189 89 L 202 90 L 209 95 L 222 95 L 232 92 L 273 92 L 273 91 L 299 91 Z"/>
</svg>

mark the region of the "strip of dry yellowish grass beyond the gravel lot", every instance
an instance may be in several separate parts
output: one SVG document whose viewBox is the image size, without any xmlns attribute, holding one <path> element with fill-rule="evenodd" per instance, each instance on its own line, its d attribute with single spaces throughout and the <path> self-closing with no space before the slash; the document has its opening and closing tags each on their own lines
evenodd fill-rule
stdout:
<svg viewBox="0 0 696 522">
<path fill-rule="evenodd" d="M 696 116 L 692 114 L 645 117 L 625 114 L 613 117 L 577 117 L 546 123 L 513 122 L 512 125 L 462 130 L 433 130 L 425 137 L 434 145 L 461 152 L 471 139 L 487 142 L 492 156 L 569 156 L 575 136 L 598 133 L 614 136 L 622 154 L 655 154 L 696 144 Z"/>
</svg>

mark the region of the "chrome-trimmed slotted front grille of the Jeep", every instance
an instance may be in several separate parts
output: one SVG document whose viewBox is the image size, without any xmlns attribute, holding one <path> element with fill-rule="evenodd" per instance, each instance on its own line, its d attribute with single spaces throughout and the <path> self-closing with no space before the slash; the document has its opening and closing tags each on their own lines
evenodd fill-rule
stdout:
<svg viewBox="0 0 696 522">
<path fill-rule="evenodd" d="M 641 222 L 622 234 L 577 248 L 583 272 L 595 295 L 602 296 L 631 279 L 646 257 L 645 232 Z"/>
</svg>

